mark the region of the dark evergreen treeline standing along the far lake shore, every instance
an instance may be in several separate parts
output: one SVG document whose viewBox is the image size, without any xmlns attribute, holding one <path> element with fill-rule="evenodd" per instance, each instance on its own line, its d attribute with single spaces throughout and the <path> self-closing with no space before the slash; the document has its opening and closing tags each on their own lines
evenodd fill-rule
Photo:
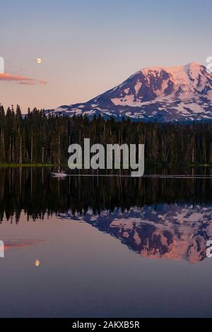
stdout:
<svg viewBox="0 0 212 332">
<path fill-rule="evenodd" d="M 102 117 L 58 117 L 33 109 L 21 114 L 0 106 L 0 163 L 66 164 L 71 143 L 145 144 L 145 162 L 167 165 L 211 164 L 212 124 L 159 124 L 107 121 Z"/>
</svg>

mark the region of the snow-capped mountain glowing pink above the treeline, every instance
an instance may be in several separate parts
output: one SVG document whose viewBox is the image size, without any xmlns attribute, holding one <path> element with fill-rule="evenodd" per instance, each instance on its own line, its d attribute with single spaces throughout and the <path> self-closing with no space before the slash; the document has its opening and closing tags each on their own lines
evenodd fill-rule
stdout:
<svg viewBox="0 0 212 332">
<path fill-rule="evenodd" d="M 192 62 L 151 67 L 85 103 L 64 105 L 54 114 L 129 117 L 134 121 L 212 121 L 212 74 Z"/>
</svg>

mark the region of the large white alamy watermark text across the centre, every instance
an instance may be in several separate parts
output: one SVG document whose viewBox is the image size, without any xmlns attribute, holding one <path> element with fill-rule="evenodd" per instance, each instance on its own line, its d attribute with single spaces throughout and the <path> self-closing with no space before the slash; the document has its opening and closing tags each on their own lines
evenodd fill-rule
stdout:
<svg viewBox="0 0 212 332">
<path fill-rule="evenodd" d="M 68 149 L 72 155 L 68 165 L 71 170 L 134 170 L 131 177 L 142 177 L 144 172 L 144 144 L 107 144 L 106 151 L 102 144 L 90 146 L 90 138 L 84 139 L 83 148 L 79 144 L 71 144 Z M 91 155 L 92 154 L 92 155 Z M 106 158 L 105 158 L 106 155 Z"/>
</svg>

